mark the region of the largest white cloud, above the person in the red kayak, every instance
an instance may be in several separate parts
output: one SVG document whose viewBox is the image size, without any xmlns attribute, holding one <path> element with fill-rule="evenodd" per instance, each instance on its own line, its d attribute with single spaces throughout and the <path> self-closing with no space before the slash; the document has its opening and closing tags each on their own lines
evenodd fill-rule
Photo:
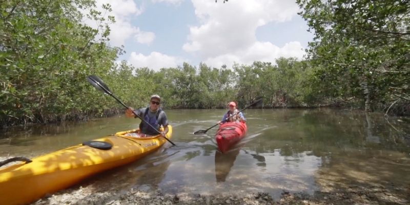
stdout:
<svg viewBox="0 0 410 205">
<path fill-rule="evenodd" d="M 259 42 L 256 29 L 271 22 L 291 20 L 299 11 L 293 1 L 236 0 L 228 4 L 192 0 L 201 25 L 190 27 L 186 52 L 205 59 L 210 66 L 251 64 L 255 60 L 274 62 L 278 57 L 302 57 L 299 42 L 282 48 L 271 42 Z"/>
</svg>

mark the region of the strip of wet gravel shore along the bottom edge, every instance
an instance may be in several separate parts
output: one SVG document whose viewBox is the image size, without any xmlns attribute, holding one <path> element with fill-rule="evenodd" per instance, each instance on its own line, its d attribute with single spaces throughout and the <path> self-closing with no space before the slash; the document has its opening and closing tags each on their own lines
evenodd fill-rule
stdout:
<svg viewBox="0 0 410 205">
<path fill-rule="evenodd" d="M 410 187 L 359 187 L 349 186 L 335 192 L 290 193 L 283 190 L 279 199 L 268 193 L 250 193 L 245 196 L 224 196 L 200 194 L 163 194 L 161 190 L 128 191 L 110 190 L 91 193 L 82 187 L 71 188 L 46 196 L 33 204 L 409 204 Z"/>
</svg>

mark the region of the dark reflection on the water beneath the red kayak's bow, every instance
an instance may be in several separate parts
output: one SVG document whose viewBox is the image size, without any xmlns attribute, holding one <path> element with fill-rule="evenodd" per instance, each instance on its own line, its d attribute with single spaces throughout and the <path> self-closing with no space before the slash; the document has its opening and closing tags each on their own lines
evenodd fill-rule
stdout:
<svg viewBox="0 0 410 205">
<path fill-rule="evenodd" d="M 230 150 L 223 154 L 218 150 L 215 151 L 215 178 L 217 182 L 223 182 L 226 180 L 239 151 L 240 148 Z"/>
</svg>

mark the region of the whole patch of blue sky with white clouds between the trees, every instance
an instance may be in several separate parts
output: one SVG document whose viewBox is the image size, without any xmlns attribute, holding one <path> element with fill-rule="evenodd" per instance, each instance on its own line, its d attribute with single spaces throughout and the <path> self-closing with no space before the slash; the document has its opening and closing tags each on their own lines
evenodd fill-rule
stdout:
<svg viewBox="0 0 410 205">
<path fill-rule="evenodd" d="M 313 34 L 287 0 L 97 0 L 111 4 L 110 44 L 134 67 L 212 67 L 302 58 Z"/>
</svg>

